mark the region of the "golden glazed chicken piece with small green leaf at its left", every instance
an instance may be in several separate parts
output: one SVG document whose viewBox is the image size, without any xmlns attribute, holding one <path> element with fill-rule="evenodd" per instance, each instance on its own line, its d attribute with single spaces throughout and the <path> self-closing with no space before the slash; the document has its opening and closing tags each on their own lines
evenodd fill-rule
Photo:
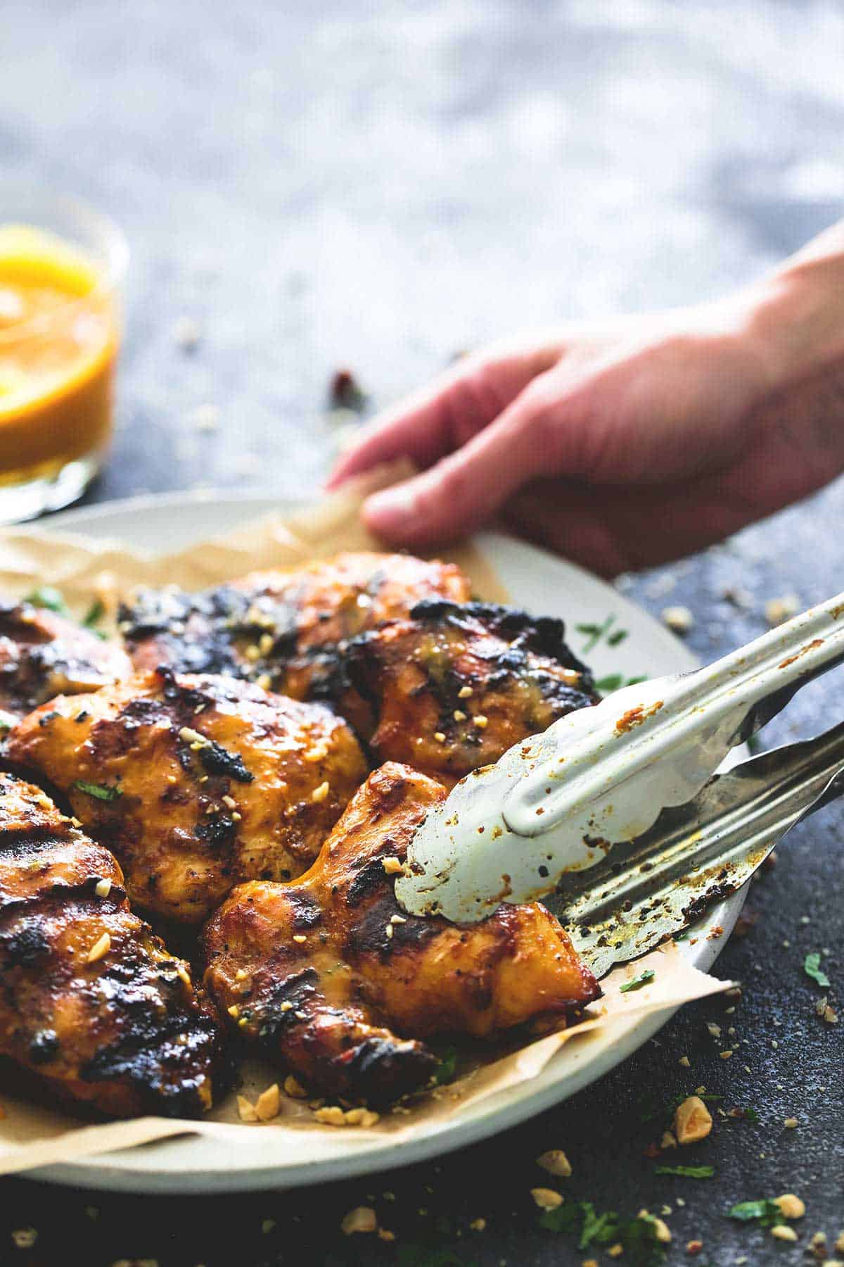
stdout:
<svg viewBox="0 0 844 1267">
<path fill-rule="evenodd" d="M 238 881 L 300 875 L 367 774 L 321 704 L 166 668 L 43 704 L 6 755 L 67 794 L 133 903 L 186 924 Z"/>
</svg>

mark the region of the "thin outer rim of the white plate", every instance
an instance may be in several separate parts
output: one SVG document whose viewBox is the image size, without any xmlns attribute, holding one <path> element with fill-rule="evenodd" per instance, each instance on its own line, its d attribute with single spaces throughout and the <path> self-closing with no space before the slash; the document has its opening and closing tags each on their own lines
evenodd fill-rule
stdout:
<svg viewBox="0 0 844 1267">
<path fill-rule="evenodd" d="M 92 506 L 75 507 L 49 516 L 44 521 L 35 521 L 29 525 L 20 525 L 22 531 L 35 528 L 39 532 L 52 530 L 85 532 L 86 527 L 101 525 L 102 519 L 127 513 L 144 514 L 149 512 L 166 512 L 168 509 L 183 509 L 186 504 L 191 507 L 214 506 L 233 511 L 235 514 L 243 509 L 243 519 L 261 513 L 290 512 L 307 506 L 316 500 L 316 497 L 299 497 L 280 494 L 270 489 L 251 489 L 244 493 L 234 493 L 227 489 L 189 489 L 185 492 L 143 493 L 129 498 L 115 498 L 109 502 L 94 503 Z M 225 531 L 225 526 L 220 528 Z M 564 563 L 574 573 L 583 576 L 591 585 L 596 583 L 611 590 L 611 585 L 601 578 L 586 571 L 586 569 L 572 563 L 561 560 L 549 551 L 539 546 L 520 542 L 496 530 L 486 530 L 476 533 L 475 540 L 483 551 L 483 542 L 492 545 L 495 540 L 505 540 L 518 546 L 523 546 L 539 556 L 547 556 L 554 563 Z M 110 540 L 125 541 L 119 532 L 110 535 Z M 671 644 L 674 655 L 682 651 L 688 666 L 697 663 L 697 658 L 678 639 L 674 639 L 668 630 L 661 628 L 655 618 L 644 608 L 638 607 L 625 594 L 614 590 L 616 598 L 623 604 L 630 604 L 645 616 L 652 623 L 654 634 L 659 631 L 661 641 Z M 736 893 L 719 903 L 714 911 L 709 912 L 709 919 L 715 919 L 723 926 L 724 933 L 715 940 L 701 938 L 700 950 L 691 955 L 695 967 L 707 972 L 716 960 L 720 952 L 726 945 L 733 927 L 739 916 L 747 886 Z M 717 912 L 717 915 L 716 915 Z M 644 1016 L 639 1022 L 633 1024 L 620 1036 L 612 1052 L 610 1064 L 604 1059 L 583 1060 L 583 1063 L 568 1072 L 566 1077 L 564 1092 L 561 1095 L 559 1081 L 553 1081 L 547 1086 L 537 1087 L 521 1096 L 514 1097 L 505 1104 L 497 1104 L 492 1097 L 485 1111 L 476 1112 L 472 1117 L 461 1121 L 456 1114 L 454 1119 L 443 1123 L 442 1126 L 419 1139 L 395 1142 L 388 1140 L 380 1145 L 373 1139 L 372 1147 L 362 1148 L 358 1152 L 338 1152 L 335 1157 L 321 1157 L 306 1162 L 292 1162 L 283 1164 L 258 1163 L 254 1167 L 238 1169 L 224 1169 L 220 1166 L 214 1168 L 201 1168 L 192 1166 L 190 1169 L 173 1171 L 167 1168 L 156 1169 L 144 1166 L 132 1167 L 130 1164 L 113 1166 L 109 1163 L 109 1154 L 80 1158 L 72 1163 L 56 1163 L 53 1166 L 39 1167 L 38 1169 L 24 1172 L 25 1177 L 97 1191 L 116 1191 L 134 1194 L 215 1194 L 215 1192 L 243 1192 L 261 1191 L 266 1188 L 300 1187 L 313 1182 L 339 1181 L 353 1178 L 364 1173 L 378 1172 L 396 1166 L 410 1166 L 428 1158 L 454 1152 L 487 1138 L 492 1133 L 510 1129 L 529 1117 L 535 1116 L 552 1105 L 561 1104 L 569 1096 L 582 1091 L 590 1083 L 604 1077 L 610 1069 L 624 1063 L 635 1050 L 643 1047 L 648 1039 L 657 1034 L 678 1009 L 657 1012 Z M 617 1055 L 617 1058 L 616 1058 Z M 529 1085 L 526 1085 L 529 1086 Z M 153 1142 L 140 1149 L 125 1150 L 124 1157 L 146 1156 L 149 1159 L 157 1149 L 164 1149 L 170 1144 L 177 1144 L 178 1136 Z M 218 1142 L 220 1147 L 223 1140 Z"/>
</svg>

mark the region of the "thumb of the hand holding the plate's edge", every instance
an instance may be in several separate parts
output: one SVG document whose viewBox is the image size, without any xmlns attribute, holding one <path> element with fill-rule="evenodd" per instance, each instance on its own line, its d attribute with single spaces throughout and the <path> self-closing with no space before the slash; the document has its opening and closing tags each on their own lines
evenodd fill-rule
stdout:
<svg viewBox="0 0 844 1267">
<path fill-rule="evenodd" d="M 375 493 L 363 507 L 373 532 L 396 545 L 433 545 L 471 532 L 526 480 L 549 474 L 545 375 L 462 449 L 421 475 Z"/>
</svg>

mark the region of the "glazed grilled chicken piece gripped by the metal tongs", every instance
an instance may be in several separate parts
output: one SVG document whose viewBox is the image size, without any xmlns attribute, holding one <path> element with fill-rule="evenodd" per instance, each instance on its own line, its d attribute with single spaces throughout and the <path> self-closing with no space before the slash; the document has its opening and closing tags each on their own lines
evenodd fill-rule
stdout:
<svg viewBox="0 0 844 1267">
<path fill-rule="evenodd" d="M 502 905 L 469 925 L 401 910 L 395 873 L 444 798 L 424 774 L 383 765 L 307 874 L 240 884 L 205 927 L 205 984 L 221 1012 L 324 1092 L 388 1102 L 430 1079 L 421 1039 L 559 1022 L 600 995 L 539 903 Z"/>
</svg>

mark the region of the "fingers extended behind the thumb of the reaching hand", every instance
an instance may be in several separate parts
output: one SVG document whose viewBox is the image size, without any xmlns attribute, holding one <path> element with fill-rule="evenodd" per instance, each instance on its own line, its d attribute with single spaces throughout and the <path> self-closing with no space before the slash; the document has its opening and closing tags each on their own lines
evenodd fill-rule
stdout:
<svg viewBox="0 0 844 1267">
<path fill-rule="evenodd" d="M 409 457 L 423 469 L 431 466 L 491 423 L 558 356 L 559 348 L 547 340 L 463 357 L 363 428 L 338 459 L 326 487 L 338 488 L 353 475 L 397 457 Z"/>
</svg>

